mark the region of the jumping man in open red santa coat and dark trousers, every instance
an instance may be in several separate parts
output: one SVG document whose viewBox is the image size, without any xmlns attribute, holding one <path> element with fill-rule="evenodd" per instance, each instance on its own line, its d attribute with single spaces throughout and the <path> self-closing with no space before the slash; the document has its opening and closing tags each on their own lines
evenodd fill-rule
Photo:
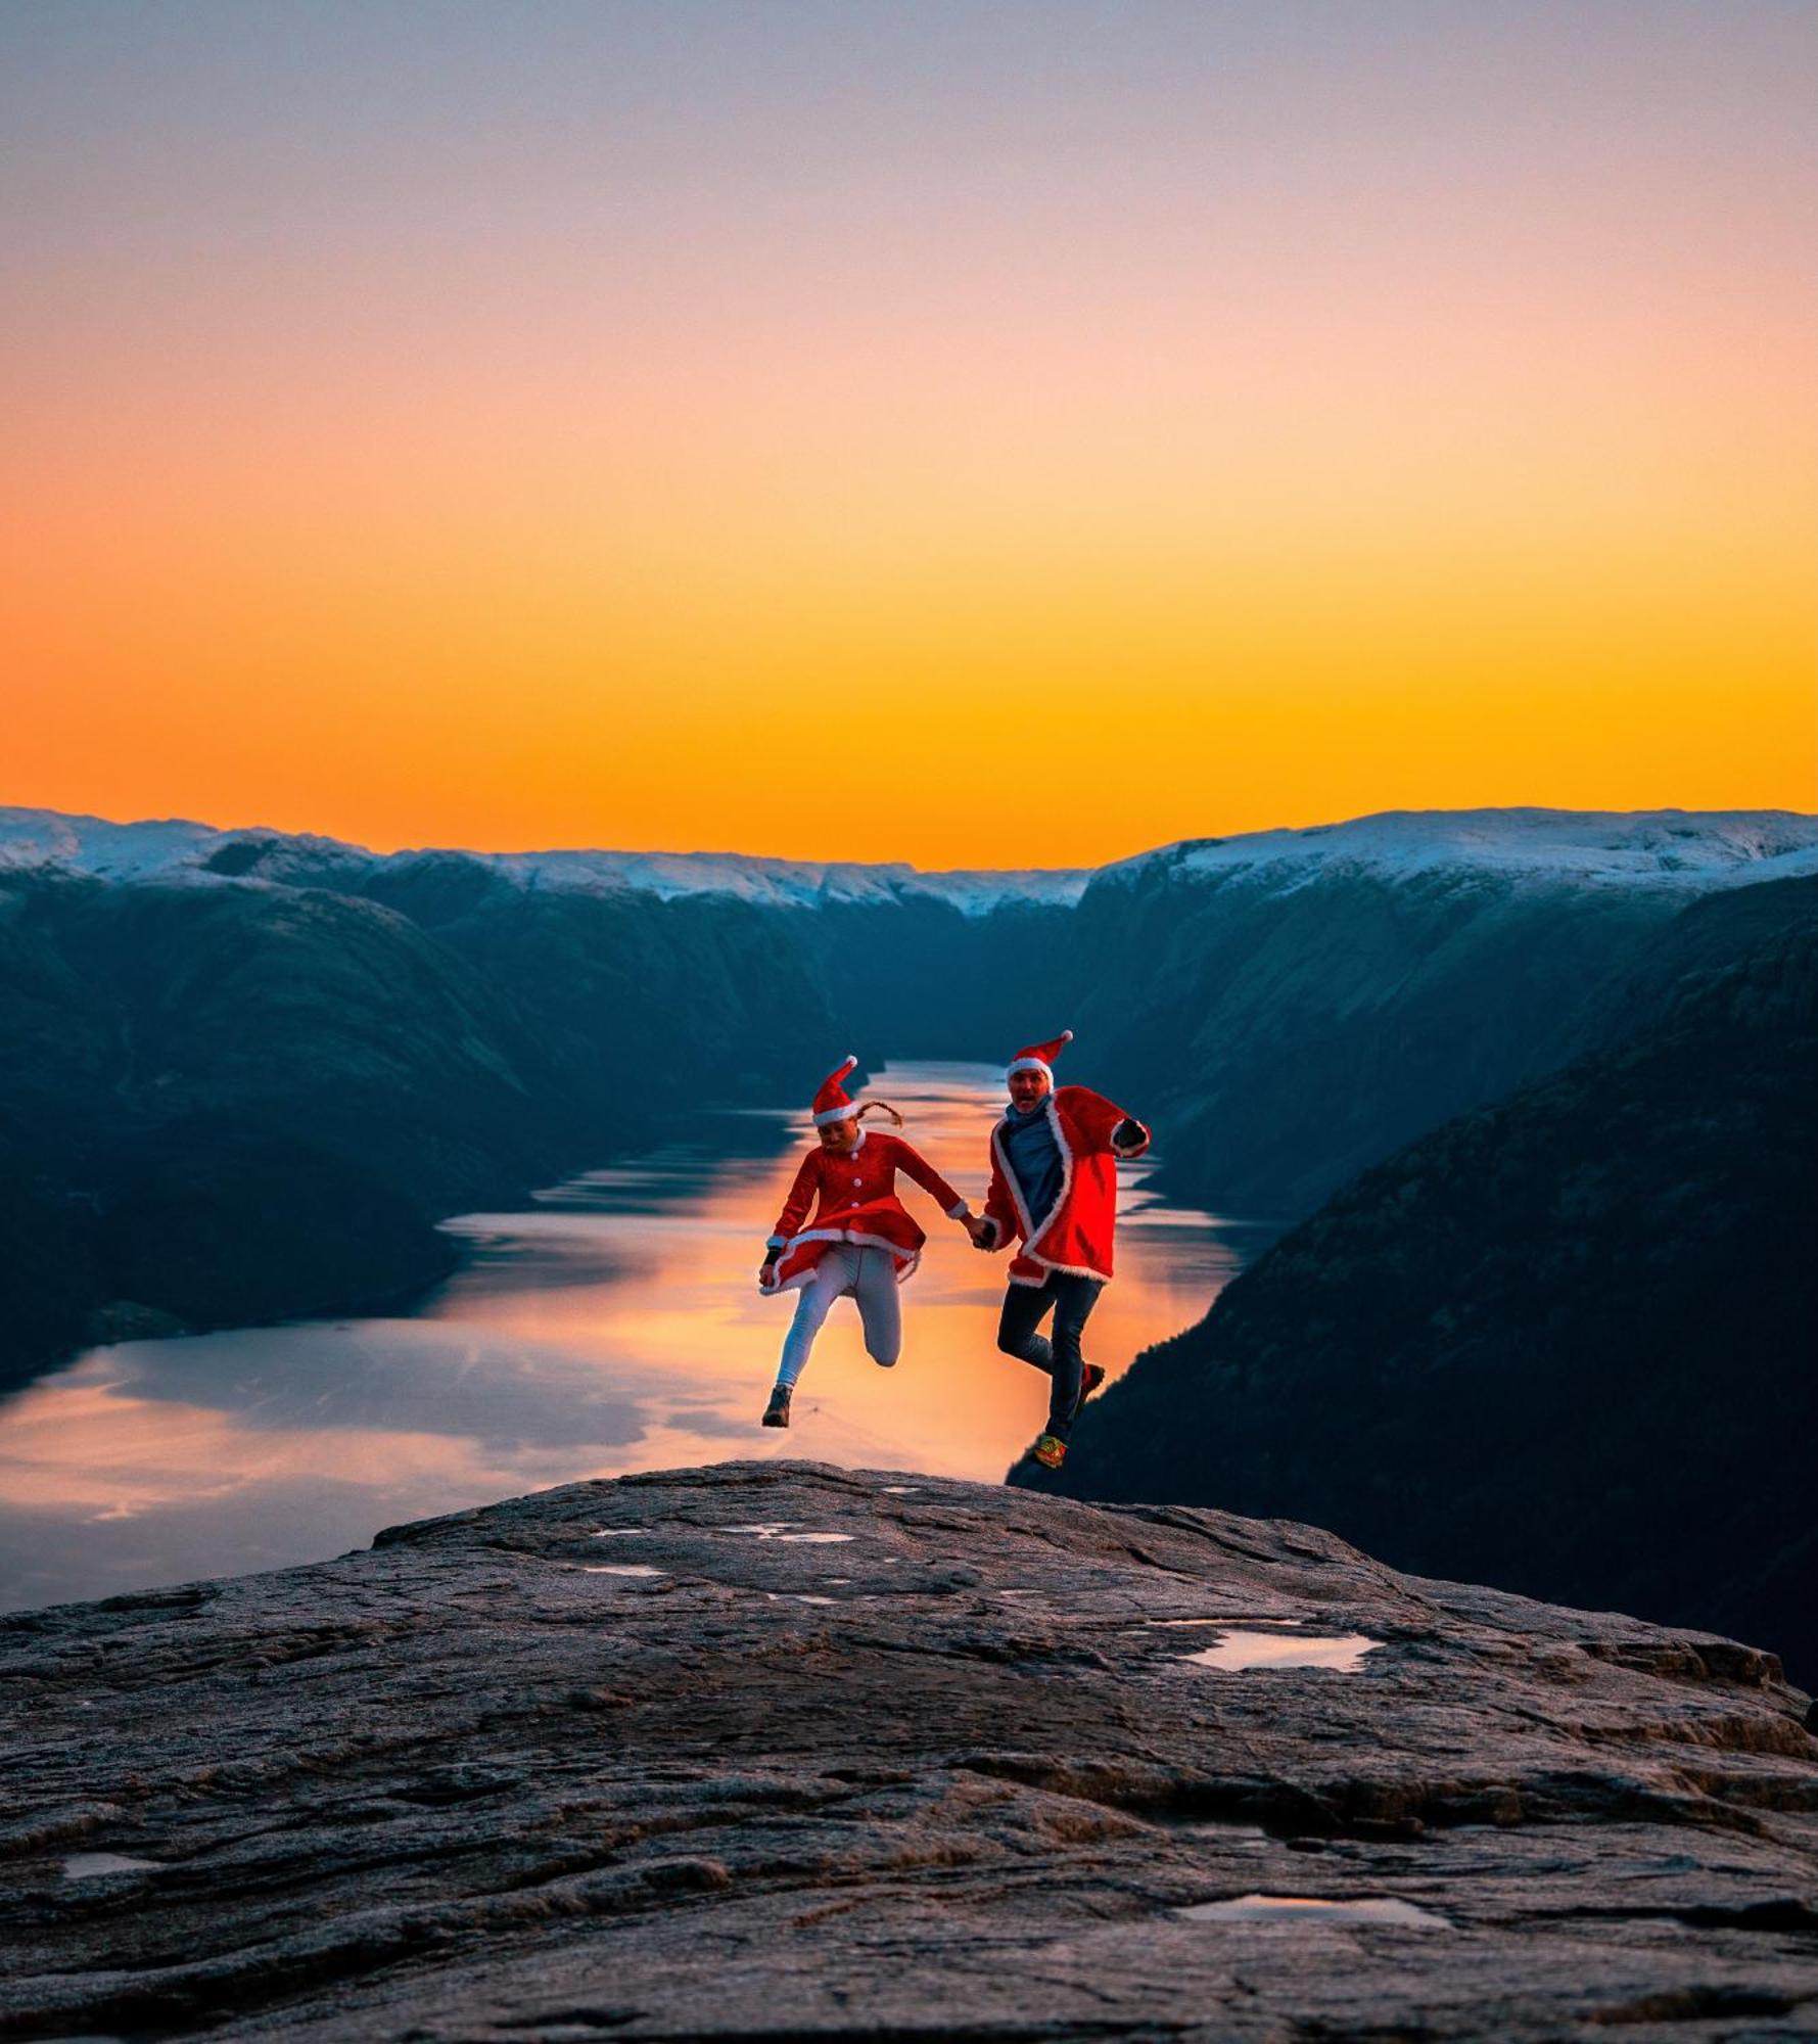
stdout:
<svg viewBox="0 0 1818 2044">
<path fill-rule="evenodd" d="M 991 1130 L 991 1192 L 985 1214 L 966 1222 L 978 1249 L 1015 1237 L 997 1345 L 1046 1369 L 1048 1429 L 1030 1453 L 1046 1470 L 1066 1459 L 1081 1402 L 1105 1372 L 1081 1355 L 1081 1337 L 1099 1292 L 1111 1282 L 1117 1228 L 1117 1159 L 1148 1149 L 1148 1128 L 1103 1094 L 1054 1085 L 1054 1059 L 1072 1042 L 1062 1030 L 1009 1061 L 1009 1106 Z M 1054 1314 L 1052 1339 L 1036 1333 Z"/>
</svg>

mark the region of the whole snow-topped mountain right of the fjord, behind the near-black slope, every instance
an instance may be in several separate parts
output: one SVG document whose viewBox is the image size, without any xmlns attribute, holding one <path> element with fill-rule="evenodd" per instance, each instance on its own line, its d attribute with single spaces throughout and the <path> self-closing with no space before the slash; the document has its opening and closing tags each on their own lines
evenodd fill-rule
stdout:
<svg viewBox="0 0 1818 2044">
<path fill-rule="evenodd" d="M 1177 1192 L 1297 1216 L 1585 1049 L 1689 901 L 1812 871 L 1814 838 L 1512 809 L 1170 846 L 1081 899 L 1081 1042 L 1166 1128 Z"/>
</svg>

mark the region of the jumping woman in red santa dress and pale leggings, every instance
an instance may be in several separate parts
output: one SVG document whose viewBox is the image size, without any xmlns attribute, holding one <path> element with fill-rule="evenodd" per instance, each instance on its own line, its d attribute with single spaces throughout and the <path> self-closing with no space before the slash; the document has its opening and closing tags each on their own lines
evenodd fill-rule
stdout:
<svg viewBox="0 0 1818 2044">
<path fill-rule="evenodd" d="M 856 1065 L 858 1059 L 848 1057 L 815 1094 L 819 1143 L 795 1173 L 758 1271 L 764 1292 L 801 1292 L 782 1343 L 776 1390 L 764 1410 L 766 1427 L 788 1425 L 788 1396 L 835 1298 L 858 1300 L 866 1353 L 884 1369 L 895 1365 L 903 1347 L 897 1286 L 913 1273 L 927 1241 L 897 1198 L 899 1171 L 972 1233 L 972 1210 L 919 1151 L 901 1136 L 862 1126 L 866 1114 L 889 1114 L 901 1128 L 903 1116 L 882 1100 L 868 1100 L 862 1108 L 848 1100 L 844 1081 Z M 809 1222 L 811 1206 L 815 1216 Z"/>
</svg>

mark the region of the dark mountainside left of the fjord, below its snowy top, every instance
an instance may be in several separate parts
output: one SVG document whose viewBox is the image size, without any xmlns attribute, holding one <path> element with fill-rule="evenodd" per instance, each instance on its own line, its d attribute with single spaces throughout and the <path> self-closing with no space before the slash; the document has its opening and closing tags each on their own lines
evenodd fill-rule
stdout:
<svg viewBox="0 0 1818 2044">
<path fill-rule="evenodd" d="M 210 1327 L 421 1288 L 437 1216 L 835 1034 L 774 912 L 515 908 L 462 944 L 315 887 L 0 873 L 0 1384 L 131 1325 L 108 1302 Z"/>
</svg>

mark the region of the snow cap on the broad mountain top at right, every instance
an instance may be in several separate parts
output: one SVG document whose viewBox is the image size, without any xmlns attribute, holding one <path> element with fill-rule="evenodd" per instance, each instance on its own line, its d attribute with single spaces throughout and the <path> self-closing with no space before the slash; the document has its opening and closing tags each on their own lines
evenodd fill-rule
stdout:
<svg viewBox="0 0 1818 2044">
<path fill-rule="evenodd" d="M 1385 809 L 1346 824 L 1187 838 L 1103 867 L 1097 885 L 1152 875 L 1281 889 L 1336 873 L 1414 879 L 1497 873 L 1557 885 L 1714 887 L 1818 873 L 1818 816 L 1791 809 Z"/>
</svg>

